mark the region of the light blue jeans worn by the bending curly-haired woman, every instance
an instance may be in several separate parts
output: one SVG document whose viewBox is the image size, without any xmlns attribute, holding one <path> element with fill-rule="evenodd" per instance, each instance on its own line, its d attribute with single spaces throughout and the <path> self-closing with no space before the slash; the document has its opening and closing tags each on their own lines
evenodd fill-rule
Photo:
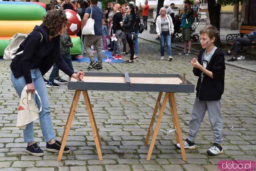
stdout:
<svg viewBox="0 0 256 171">
<path fill-rule="evenodd" d="M 44 136 L 44 141 L 48 142 L 51 139 L 54 139 L 54 131 L 52 128 L 52 120 L 50 115 L 50 103 L 47 95 L 46 86 L 44 84 L 44 79 L 39 69 L 30 70 L 32 81 L 35 85 L 36 91 L 41 98 L 42 101 L 42 111 L 39 113 L 39 121 L 42 129 L 42 133 Z M 19 97 L 23 88 L 26 85 L 24 76 L 15 78 L 11 72 L 11 80 L 12 85 L 14 86 L 15 90 L 17 91 Z M 40 107 L 40 101 L 36 98 L 36 104 Z M 24 142 L 30 143 L 34 141 L 34 129 L 33 129 L 33 122 L 29 123 L 26 126 L 26 129 L 23 130 L 24 134 Z"/>
</svg>

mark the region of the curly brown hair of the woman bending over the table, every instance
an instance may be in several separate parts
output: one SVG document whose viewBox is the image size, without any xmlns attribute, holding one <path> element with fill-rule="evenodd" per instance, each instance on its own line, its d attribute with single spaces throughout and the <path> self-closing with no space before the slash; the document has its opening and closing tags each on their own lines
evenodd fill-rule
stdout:
<svg viewBox="0 0 256 171">
<path fill-rule="evenodd" d="M 50 10 L 43 18 L 43 25 L 47 28 L 50 36 L 56 36 L 62 26 L 68 25 L 68 19 L 64 10 Z"/>
</svg>

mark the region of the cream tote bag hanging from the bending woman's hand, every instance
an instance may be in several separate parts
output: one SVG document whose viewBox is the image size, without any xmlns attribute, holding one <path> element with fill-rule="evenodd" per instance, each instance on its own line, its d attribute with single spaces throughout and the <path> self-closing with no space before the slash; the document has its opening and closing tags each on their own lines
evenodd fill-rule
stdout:
<svg viewBox="0 0 256 171">
<path fill-rule="evenodd" d="M 37 95 L 40 101 L 40 109 L 36 106 L 36 100 L 34 99 L 34 93 L 27 92 L 27 85 L 23 88 L 20 95 L 20 105 L 18 108 L 18 116 L 17 116 L 17 125 L 20 129 L 25 129 L 27 124 L 38 119 L 39 113 L 42 111 L 42 102 L 41 98 L 38 95 L 37 91 L 35 94 Z"/>
</svg>

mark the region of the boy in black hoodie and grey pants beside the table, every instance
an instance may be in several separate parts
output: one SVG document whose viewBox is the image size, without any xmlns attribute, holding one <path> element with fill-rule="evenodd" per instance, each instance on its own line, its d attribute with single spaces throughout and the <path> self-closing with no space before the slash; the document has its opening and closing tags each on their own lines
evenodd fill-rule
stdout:
<svg viewBox="0 0 256 171">
<path fill-rule="evenodd" d="M 188 138 L 183 141 L 185 149 L 195 149 L 194 139 L 208 110 L 209 120 L 214 134 L 214 143 L 207 150 L 208 155 L 223 153 L 222 141 L 222 116 L 220 112 L 220 99 L 224 91 L 225 62 L 224 54 L 214 45 L 219 31 L 215 26 L 205 26 L 200 31 L 201 46 L 204 48 L 198 55 L 198 60 L 191 61 L 193 73 L 198 76 L 196 85 L 196 99 L 189 122 Z M 180 144 L 175 144 L 180 149 Z"/>
</svg>

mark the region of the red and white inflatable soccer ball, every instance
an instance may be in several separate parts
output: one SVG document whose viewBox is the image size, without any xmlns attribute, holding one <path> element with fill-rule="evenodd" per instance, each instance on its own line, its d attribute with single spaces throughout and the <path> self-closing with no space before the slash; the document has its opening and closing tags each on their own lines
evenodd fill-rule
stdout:
<svg viewBox="0 0 256 171">
<path fill-rule="evenodd" d="M 73 10 L 65 10 L 68 19 L 68 34 L 75 35 L 81 29 L 82 20 L 80 16 Z"/>
</svg>

